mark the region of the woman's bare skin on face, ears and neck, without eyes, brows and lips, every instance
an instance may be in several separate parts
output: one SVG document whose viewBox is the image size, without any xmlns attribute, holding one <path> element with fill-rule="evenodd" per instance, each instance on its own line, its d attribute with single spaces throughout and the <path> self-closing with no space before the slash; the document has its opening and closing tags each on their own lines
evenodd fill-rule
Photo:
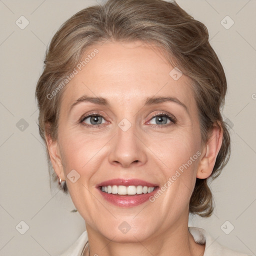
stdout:
<svg viewBox="0 0 256 256">
<path fill-rule="evenodd" d="M 90 255 L 203 255 L 205 245 L 195 243 L 187 228 L 189 199 L 196 177 L 212 172 L 222 130 L 214 126 L 207 143 L 201 143 L 190 80 L 185 75 L 172 79 L 173 66 L 156 46 L 105 42 L 86 54 L 95 47 L 98 54 L 63 91 L 57 140 L 47 136 L 53 168 L 66 180 L 85 220 Z M 80 102 L 70 110 L 85 94 L 104 97 L 110 105 Z M 175 102 L 145 106 L 150 96 L 175 97 L 187 110 Z M 83 121 L 90 127 L 79 122 L 95 111 L 105 116 L 99 117 L 99 127 L 92 127 L 90 117 Z M 176 123 L 167 118 L 159 124 L 150 115 L 162 112 L 174 116 Z M 118 127 L 123 118 L 131 123 L 127 131 Z M 112 178 L 138 178 L 161 187 L 197 151 L 201 155 L 154 202 L 120 207 L 104 200 L 96 188 Z M 67 178 L 72 169 L 80 175 L 74 183 Z M 125 234 L 118 229 L 123 221 L 131 227 Z"/>
</svg>

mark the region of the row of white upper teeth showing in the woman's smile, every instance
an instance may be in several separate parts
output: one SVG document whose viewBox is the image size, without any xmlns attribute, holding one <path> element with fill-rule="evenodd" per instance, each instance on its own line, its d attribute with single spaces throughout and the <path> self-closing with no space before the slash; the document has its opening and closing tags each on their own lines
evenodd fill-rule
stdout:
<svg viewBox="0 0 256 256">
<path fill-rule="evenodd" d="M 123 185 L 113 185 L 113 186 L 102 186 L 101 191 L 106 192 L 108 194 L 128 194 L 128 195 L 133 195 L 133 194 L 142 194 L 142 193 L 150 193 L 154 190 L 153 186 L 123 186 Z"/>
</svg>

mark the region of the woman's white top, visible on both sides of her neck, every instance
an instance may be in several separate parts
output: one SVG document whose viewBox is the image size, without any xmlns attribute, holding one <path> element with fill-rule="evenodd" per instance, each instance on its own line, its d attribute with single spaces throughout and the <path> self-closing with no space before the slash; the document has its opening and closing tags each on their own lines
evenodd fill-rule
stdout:
<svg viewBox="0 0 256 256">
<path fill-rule="evenodd" d="M 188 227 L 196 243 L 205 244 L 203 256 L 249 256 L 241 252 L 228 249 L 215 241 L 204 229 L 194 226 Z M 60 256 L 81 256 L 83 247 L 88 241 L 85 230 L 79 238 Z"/>
</svg>

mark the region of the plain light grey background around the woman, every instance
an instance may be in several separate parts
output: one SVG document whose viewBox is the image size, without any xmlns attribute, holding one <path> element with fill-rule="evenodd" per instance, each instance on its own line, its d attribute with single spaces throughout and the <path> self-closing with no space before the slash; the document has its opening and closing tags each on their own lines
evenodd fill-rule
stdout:
<svg viewBox="0 0 256 256">
<path fill-rule="evenodd" d="M 49 188 L 34 90 L 53 34 L 72 14 L 96 3 L 0 0 L 0 256 L 58 255 L 85 228 L 79 213 L 71 212 L 69 195 L 57 186 Z M 192 217 L 189 224 L 205 228 L 225 246 L 255 255 L 256 1 L 177 3 L 207 26 L 210 43 L 223 64 L 228 82 L 223 113 L 232 142 L 231 158 L 211 184 L 214 214 L 206 219 Z M 29 21 L 24 29 L 15 23 L 21 15 Z M 227 15 L 234 21 L 228 29 L 223 26 L 231 24 Z M 29 229 L 20 234 L 26 225 Z M 224 233 L 232 226 L 229 234 Z"/>
</svg>

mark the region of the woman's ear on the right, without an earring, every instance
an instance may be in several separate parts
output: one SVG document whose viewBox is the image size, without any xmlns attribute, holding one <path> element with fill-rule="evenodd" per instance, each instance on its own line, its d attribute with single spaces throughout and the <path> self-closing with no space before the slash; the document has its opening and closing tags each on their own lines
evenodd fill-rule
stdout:
<svg viewBox="0 0 256 256">
<path fill-rule="evenodd" d="M 221 125 L 215 124 L 212 133 L 203 148 L 202 158 L 198 164 L 197 178 L 207 178 L 210 176 L 217 154 L 222 144 L 223 129 Z"/>
</svg>

